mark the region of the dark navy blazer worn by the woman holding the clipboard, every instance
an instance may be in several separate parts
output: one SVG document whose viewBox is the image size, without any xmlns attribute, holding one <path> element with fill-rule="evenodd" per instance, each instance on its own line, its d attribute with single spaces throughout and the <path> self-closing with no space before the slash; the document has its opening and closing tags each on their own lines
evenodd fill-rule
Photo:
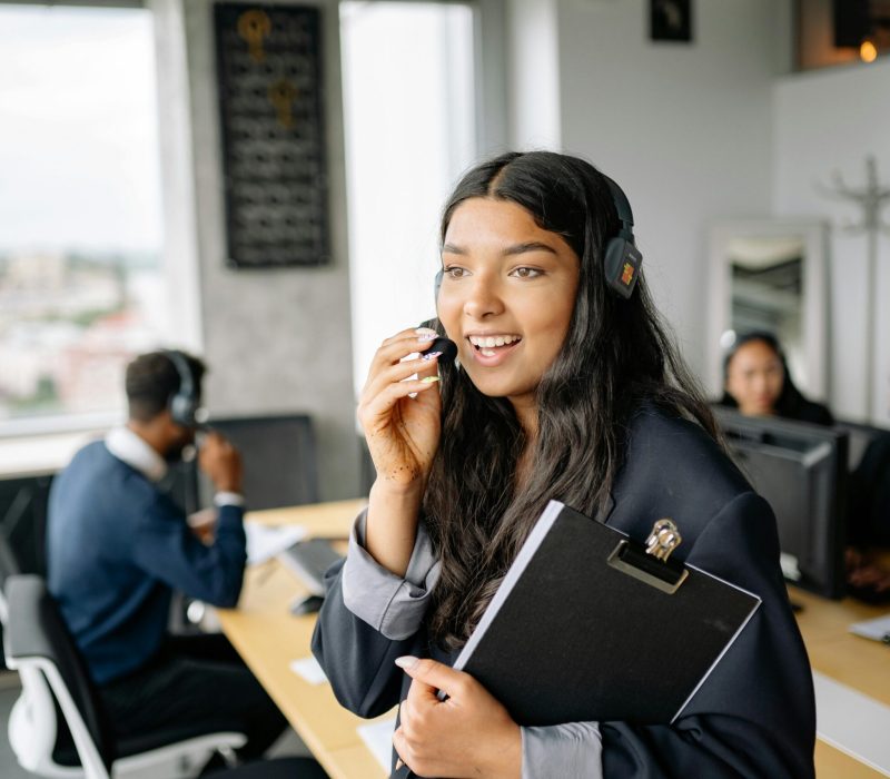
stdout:
<svg viewBox="0 0 890 779">
<path fill-rule="evenodd" d="M 698 425 L 653 410 L 629 425 L 612 497 L 607 524 L 642 541 L 655 520 L 673 517 L 683 533 L 675 558 L 763 603 L 673 726 L 600 723 L 603 776 L 814 777 L 812 676 L 789 608 L 769 504 Z M 392 641 L 355 617 L 343 603 L 340 568 L 328 574 L 313 651 L 340 703 L 374 717 L 407 694 L 411 680 L 395 658 L 452 659 L 431 651 L 425 629 Z"/>
</svg>

